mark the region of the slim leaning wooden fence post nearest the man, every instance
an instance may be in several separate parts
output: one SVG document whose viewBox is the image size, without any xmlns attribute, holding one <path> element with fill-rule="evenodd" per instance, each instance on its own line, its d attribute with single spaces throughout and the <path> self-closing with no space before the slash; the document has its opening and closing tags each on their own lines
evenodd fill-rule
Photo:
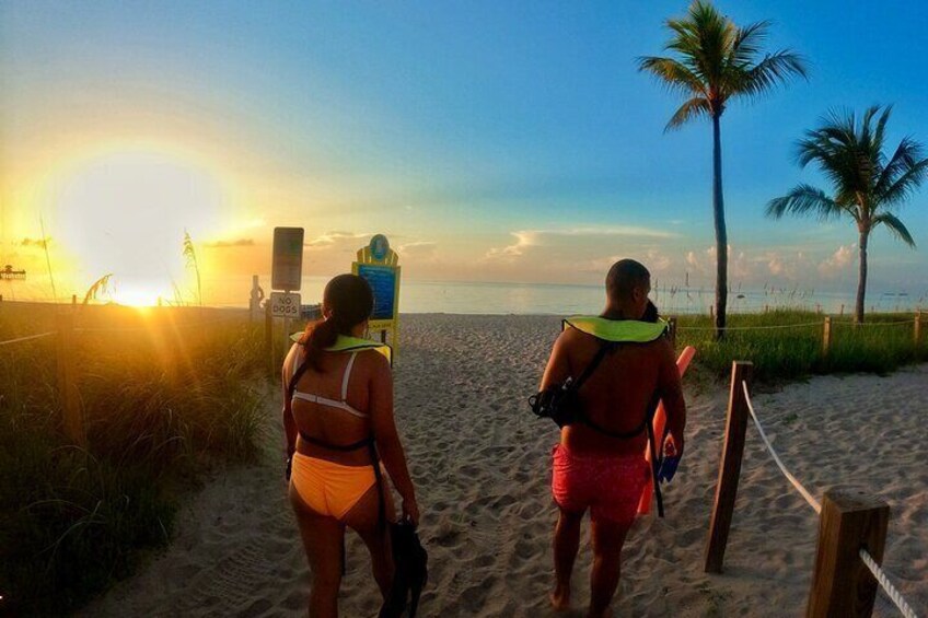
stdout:
<svg viewBox="0 0 928 618">
<path fill-rule="evenodd" d="M 709 521 L 709 538 L 706 543 L 706 567 L 708 573 L 721 573 L 728 532 L 738 495 L 738 479 L 741 475 L 741 457 L 744 454 L 744 432 L 747 429 L 747 401 L 742 381 L 751 382 L 753 363 L 731 363 L 731 392 L 728 398 L 728 421 L 722 456 L 719 460 L 719 481 L 716 485 L 716 501 Z"/>
</svg>

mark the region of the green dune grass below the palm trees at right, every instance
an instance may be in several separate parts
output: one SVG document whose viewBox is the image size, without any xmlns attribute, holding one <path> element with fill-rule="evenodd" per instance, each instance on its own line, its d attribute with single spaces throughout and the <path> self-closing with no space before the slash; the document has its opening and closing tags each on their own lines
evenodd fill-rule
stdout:
<svg viewBox="0 0 928 618">
<path fill-rule="evenodd" d="M 827 354 L 824 317 L 794 310 L 735 314 L 729 316 L 724 340 L 715 341 L 709 316 L 682 316 L 677 347 L 695 346 L 697 365 L 721 380 L 735 360 L 754 363 L 756 380 L 784 381 L 825 373 L 884 374 L 928 359 L 928 334 L 915 346 L 914 314 L 871 314 L 859 326 L 850 317 L 833 316 Z"/>
</svg>

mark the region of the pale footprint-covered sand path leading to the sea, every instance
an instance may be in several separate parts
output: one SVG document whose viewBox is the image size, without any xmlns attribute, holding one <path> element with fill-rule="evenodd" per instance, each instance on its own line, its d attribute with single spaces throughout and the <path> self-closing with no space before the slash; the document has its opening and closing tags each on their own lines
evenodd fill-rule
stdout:
<svg viewBox="0 0 928 618">
<path fill-rule="evenodd" d="M 531 415 L 526 398 L 558 318 L 408 315 L 402 324 L 396 417 L 430 557 L 421 615 L 554 615 L 549 458 L 557 430 Z M 817 518 L 753 427 L 726 573 L 703 572 L 727 388 L 687 384 L 686 457 L 664 491 L 666 518 L 642 517 L 629 535 L 617 616 L 804 613 Z M 884 567 L 916 610 L 928 607 L 928 365 L 757 390 L 768 435 L 814 495 L 854 486 L 890 504 Z M 271 392 L 262 462 L 217 474 L 182 509 L 171 547 L 83 616 L 305 615 L 309 571 L 286 501 L 279 394 Z M 567 616 L 582 616 L 589 599 L 587 539 L 584 525 Z M 369 569 L 360 539 L 349 534 L 341 616 L 376 615 Z M 897 613 L 878 594 L 875 615 Z"/>
</svg>

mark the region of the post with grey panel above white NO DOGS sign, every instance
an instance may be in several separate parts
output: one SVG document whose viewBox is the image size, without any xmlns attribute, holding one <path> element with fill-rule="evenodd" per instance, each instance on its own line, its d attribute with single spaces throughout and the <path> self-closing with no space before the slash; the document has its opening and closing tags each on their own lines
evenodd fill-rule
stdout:
<svg viewBox="0 0 928 618">
<path fill-rule="evenodd" d="M 274 259 L 270 272 L 270 305 L 272 317 L 283 318 L 283 350 L 290 343 L 290 318 L 300 317 L 301 280 L 303 277 L 303 229 L 274 229 Z M 270 338 L 268 338 L 270 339 Z M 272 339 L 270 339 L 272 341 Z M 274 346 L 270 346 L 274 358 Z M 271 361 L 272 363 L 272 361 Z"/>
</svg>

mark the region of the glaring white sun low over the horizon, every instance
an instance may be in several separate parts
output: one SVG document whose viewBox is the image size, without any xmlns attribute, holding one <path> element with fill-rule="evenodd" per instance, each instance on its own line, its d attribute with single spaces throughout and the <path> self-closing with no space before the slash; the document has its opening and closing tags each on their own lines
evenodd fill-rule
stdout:
<svg viewBox="0 0 928 618">
<path fill-rule="evenodd" d="M 74 256 L 76 287 L 113 273 L 119 304 L 196 302 L 184 235 L 220 229 L 223 193 L 214 175 L 173 154 L 119 149 L 69 167 L 56 182 L 53 236 Z"/>
</svg>

